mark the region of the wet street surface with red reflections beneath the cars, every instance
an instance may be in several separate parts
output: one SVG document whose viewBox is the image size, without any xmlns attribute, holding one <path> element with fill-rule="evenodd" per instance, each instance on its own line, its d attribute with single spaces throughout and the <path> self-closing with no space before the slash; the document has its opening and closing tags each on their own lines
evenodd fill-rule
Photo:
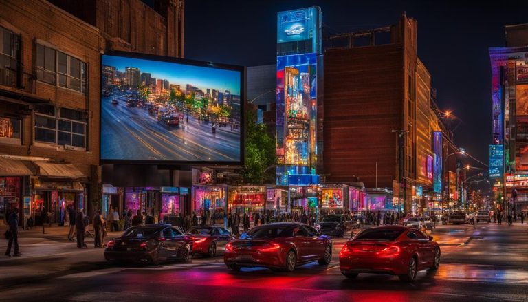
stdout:
<svg viewBox="0 0 528 302">
<path fill-rule="evenodd" d="M 440 268 L 420 272 L 411 284 L 389 275 L 345 279 L 338 254 L 347 239 L 333 239 L 329 266 L 314 263 L 289 274 L 232 272 L 221 256 L 118 266 L 104 261 L 93 239 L 78 249 L 66 240 L 66 227 L 46 232 L 21 231 L 23 256 L 0 257 L 1 301 L 528 301 L 527 224 L 437 226 Z M 6 245 L 0 241 L 0 248 Z"/>
</svg>

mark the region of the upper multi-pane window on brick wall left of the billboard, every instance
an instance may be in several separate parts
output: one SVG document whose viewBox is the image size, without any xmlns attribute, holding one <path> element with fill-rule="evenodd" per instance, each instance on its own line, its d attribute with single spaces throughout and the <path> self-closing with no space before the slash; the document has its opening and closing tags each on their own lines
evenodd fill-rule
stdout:
<svg viewBox="0 0 528 302">
<path fill-rule="evenodd" d="M 78 58 L 37 44 L 36 67 L 39 80 L 86 93 L 86 63 Z"/>
</svg>

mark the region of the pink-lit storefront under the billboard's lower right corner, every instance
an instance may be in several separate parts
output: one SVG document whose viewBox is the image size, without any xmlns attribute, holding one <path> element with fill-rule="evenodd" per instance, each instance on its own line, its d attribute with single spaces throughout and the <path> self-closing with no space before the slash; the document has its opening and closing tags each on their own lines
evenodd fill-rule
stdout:
<svg viewBox="0 0 528 302">
<path fill-rule="evenodd" d="M 192 186 L 192 210 L 198 217 L 215 217 L 214 223 L 223 223 L 227 211 L 228 186 L 199 184 Z M 208 214 L 207 214 L 208 213 Z"/>
</svg>

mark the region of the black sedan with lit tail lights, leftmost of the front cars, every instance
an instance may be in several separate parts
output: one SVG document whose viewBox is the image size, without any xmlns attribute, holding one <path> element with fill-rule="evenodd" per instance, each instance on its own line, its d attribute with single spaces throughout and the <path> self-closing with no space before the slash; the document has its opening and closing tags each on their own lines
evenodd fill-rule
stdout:
<svg viewBox="0 0 528 302">
<path fill-rule="evenodd" d="M 158 265 L 159 261 L 190 259 L 192 240 L 170 224 L 133 226 L 107 243 L 107 261 L 136 261 Z"/>
</svg>

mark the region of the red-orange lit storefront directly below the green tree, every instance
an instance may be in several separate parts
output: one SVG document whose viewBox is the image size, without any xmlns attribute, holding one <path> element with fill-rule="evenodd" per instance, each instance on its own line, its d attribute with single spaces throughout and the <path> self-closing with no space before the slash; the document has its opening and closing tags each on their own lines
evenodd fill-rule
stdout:
<svg viewBox="0 0 528 302">
<path fill-rule="evenodd" d="M 263 212 L 265 201 L 265 186 L 232 186 L 229 190 L 228 211 L 238 213 Z"/>
</svg>

